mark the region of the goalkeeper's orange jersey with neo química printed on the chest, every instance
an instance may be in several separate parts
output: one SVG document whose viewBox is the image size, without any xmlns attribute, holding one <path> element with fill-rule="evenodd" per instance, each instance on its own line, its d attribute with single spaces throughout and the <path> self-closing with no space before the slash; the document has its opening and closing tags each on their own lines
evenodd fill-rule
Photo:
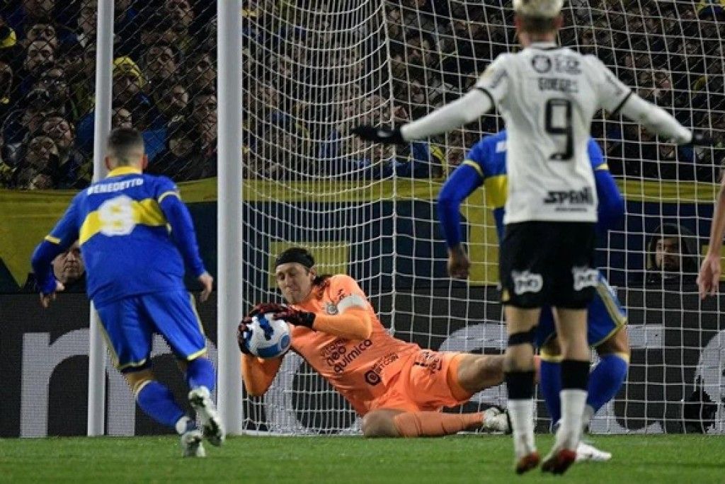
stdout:
<svg viewBox="0 0 725 484">
<path fill-rule="evenodd" d="M 340 309 L 364 306 L 373 323 L 373 332 L 365 340 L 344 339 L 303 326 L 292 327 L 292 349 L 325 377 L 352 404 L 355 412 L 365 415 L 385 393 L 389 381 L 421 348 L 393 338 L 378 320 L 365 292 L 348 275 L 334 275 L 326 287 L 312 288 L 312 291 L 311 299 L 293 307 L 318 314 L 337 314 Z"/>
</svg>

